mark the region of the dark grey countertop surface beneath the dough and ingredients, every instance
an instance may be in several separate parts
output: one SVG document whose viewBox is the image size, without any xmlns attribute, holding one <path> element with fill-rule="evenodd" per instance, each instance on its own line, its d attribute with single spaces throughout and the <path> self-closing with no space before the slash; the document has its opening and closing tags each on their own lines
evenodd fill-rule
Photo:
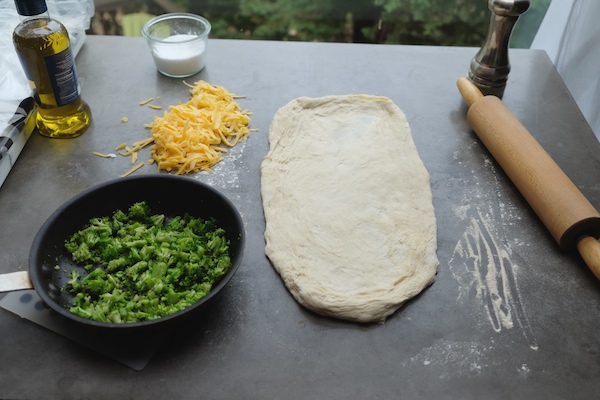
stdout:
<svg viewBox="0 0 600 400">
<path fill-rule="evenodd" d="M 456 80 L 476 50 L 211 40 L 206 69 L 187 81 L 246 96 L 239 103 L 258 129 L 214 173 L 194 176 L 244 218 L 239 271 L 141 371 L 0 309 L 0 398 L 596 396 L 600 284 L 578 254 L 558 248 L 471 131 Z M 600 144 L 544 52 L 510 57 L 505 104 L 599 208 Z M 168 106 L 189 96 L 182 80 L 156 71 L 141 38 L 88 36 L 77 68 L 93 125 L 77 139 L 30 138 L 0 189 L 2 273 L 27 268 L 38 228 L 60 204 L 131 167 L 128 158 L 92 152 L 148 137 L 143 125 L 162 111 L 140 101 L 160 96 L 155 104 Z M 436 282 L 382 325 L 302 308 L 264 254 L 259 166 L 271 118 L 297 97 L 350 93 L 387 96 L 405 112 L 438 222 Z M 153 173 L 149 165 L 136 172 Z"/>
</svg>

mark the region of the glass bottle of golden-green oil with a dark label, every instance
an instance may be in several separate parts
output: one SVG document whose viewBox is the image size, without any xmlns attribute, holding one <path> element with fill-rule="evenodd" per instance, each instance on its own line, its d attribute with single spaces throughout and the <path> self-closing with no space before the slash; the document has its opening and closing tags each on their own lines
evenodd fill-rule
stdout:
<svg viewBox="0 0 600 400">
<path fill-rule="evenodd" d="M 46 0 L 15 0 L 21 22 L 13 43 L 36 102 L 39 132 L 53 138 L 81 135 L 92 114 L 80 95 L 69 34 L 50 18 Z"/>
</svg>

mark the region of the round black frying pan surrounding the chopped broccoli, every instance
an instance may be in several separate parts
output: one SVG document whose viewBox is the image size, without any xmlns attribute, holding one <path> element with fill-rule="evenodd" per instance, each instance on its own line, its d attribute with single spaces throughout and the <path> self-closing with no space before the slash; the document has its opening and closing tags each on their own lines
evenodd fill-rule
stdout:
<svg viewBox="0 0 600 400">
<path fill-rule="evenodd" d="M 231 269 L 206 297 L 182 311 L 156 320 L 115 324 L 96 322 L 72 314 L 68 308 L 73 295 L 62 288 L 69 280 L 68 274 L 72 268 L 77 268 L 82 276 L 86 273 L 72 261 L 64 248 L 65 239 L 82 229 L 91 218 L 108 216 L 118 209 L 126 210 L 138 201 L 146 201 L 153 213 L 165 214 L 167 218 L 185 213 L 194 217 L 215 218 L 218 226 L 225 229 L 230 241 Z M 167 174 L 119 178 L 85 190 L 50 215 L 33 240 L 29 254 L 29 278 L 42 301 L 50 308 L 87 327 L 112 332 L 163 328 L 205 307 L 227 285 L 241 263 L 244 243 L 244 225 L 240 214 L 214 188 L 191 178 Z"/>
</svg>

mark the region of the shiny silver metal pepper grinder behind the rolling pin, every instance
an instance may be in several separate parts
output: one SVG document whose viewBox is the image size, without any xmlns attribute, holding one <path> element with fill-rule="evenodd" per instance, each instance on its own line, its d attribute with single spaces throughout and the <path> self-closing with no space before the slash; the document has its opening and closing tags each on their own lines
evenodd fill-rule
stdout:
<svg viewBox="0 0 600 400">
<path fill-rule="evenodd" d="M 519 16 L 529 9 L 530 4 L 531 0 L 488 0 L 492 14 L 487 38 L 471 60 L 469 69 L 469 80 L 483 94 L 499 98 L 504 95 L 510 72 L 510 35 Z"/>
</svg>

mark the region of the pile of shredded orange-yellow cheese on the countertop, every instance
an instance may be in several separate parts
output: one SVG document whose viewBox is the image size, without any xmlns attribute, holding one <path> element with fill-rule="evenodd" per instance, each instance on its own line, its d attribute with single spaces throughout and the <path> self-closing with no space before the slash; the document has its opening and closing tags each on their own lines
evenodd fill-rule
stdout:
<svg viewBox="0 0 600 400">
<path fill-rule="evenodd" d="M 159 170 L 185 174 L 212 171 L 227 147 L 250 133 L 250 113 L 236 103 L 236 96 L 204 81 L 191 87 L 191 99 L 170 106 L 152 129 L 152 159 Z"/>
</svg>

